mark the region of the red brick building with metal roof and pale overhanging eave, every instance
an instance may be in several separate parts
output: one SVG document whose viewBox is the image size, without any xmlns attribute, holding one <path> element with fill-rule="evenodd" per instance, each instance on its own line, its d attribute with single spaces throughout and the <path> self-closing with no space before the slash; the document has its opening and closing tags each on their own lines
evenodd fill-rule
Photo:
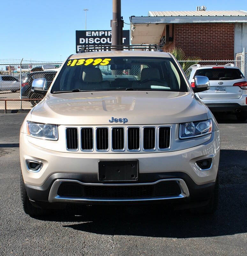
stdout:
<svg viewBox="0 0 247 256">
<path fill-rule="evenodd" d="M 246 11 L 148 12 L 130 21 L 131 44 L 181 47 L 186 56 L 204 60 L 233 60 L 247 48 Z"/>
</svg>

